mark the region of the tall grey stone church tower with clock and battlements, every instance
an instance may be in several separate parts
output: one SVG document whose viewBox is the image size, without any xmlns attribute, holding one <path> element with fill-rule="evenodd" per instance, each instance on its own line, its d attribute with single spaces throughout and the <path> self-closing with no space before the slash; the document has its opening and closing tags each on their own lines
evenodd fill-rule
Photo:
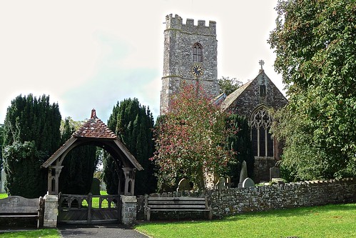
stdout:
<svg viewBox="0 0 356 238">
<path fill-rule="evenodd" d="M 164 31 L 163 77 L 161 90 L 161 114 L 169 108 L 171 96 L 177 94 L 183 81 L 198 81 L 209 96 L 217 96 L 218 86 L 218 41 L 216 23 L 166 16 Z"/>
</svg>

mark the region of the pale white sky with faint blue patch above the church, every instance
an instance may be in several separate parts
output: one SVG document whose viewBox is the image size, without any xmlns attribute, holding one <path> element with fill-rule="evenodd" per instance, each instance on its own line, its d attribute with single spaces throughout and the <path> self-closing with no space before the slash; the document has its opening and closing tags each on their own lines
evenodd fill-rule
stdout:
<svg viewBox="0 0 356 238">
<path fill-rule="evenodd" d="M 19 94 L 46 94 L 61 116 L 107 122 L 129 97 L 159 114 L 167 14 L 216 21 L 218 77 L 246 82 L 265 61 L 280 90 L 267 43 L 277 0 L 0 1 L 0 124 Z"/>
</svg>

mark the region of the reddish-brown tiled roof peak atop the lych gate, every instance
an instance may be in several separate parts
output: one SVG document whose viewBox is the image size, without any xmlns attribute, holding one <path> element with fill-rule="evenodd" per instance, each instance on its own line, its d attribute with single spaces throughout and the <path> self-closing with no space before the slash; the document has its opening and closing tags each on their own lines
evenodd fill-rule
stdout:
<svg viewBox="0 0 356 238">
<path fill-rule="evenodd" d="M 96 117 L 96 111 L 91 110 L 91 119 L 88 119 L 76 132 L 73 133 L 73 137 L 87 137 L 87 138 L 102 138 L 102 139 L 116 139 L 116 134 L 108 129 L 101 119 Z"/>
</svg>

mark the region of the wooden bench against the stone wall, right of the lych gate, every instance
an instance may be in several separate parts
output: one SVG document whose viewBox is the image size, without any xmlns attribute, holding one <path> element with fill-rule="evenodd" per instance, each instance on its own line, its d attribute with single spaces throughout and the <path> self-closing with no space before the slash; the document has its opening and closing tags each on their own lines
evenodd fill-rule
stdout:
<svg viewBox="0 0 356 238">
<path fill-rule="evenodd" d="M 207 212 L 208 219 L 213 217 L 206 197 L 146 197 L 145 214 L 148 221 L 151 212 Z"/>
</svg>

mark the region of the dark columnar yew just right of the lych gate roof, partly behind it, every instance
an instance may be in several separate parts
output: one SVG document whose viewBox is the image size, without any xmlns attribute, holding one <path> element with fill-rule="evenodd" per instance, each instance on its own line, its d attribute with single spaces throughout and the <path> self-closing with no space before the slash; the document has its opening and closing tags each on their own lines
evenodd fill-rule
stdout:
<svg viewBox="0 0 356 238">
<path fill-rule="evenodd" d="M 108 127 L 118 135 L 131 154 L 143 167 L 136 172 L 135 194 L 155 192 L 157 181 L 153 177 L 153 116 L 149 108 L 141 106 L 138 99 L 125 99 L 113 107 Z M 118 193 L 118 171 L 121 167 L 105 153 L 103 157 L 103 178 L 108 194 Z"/>
</svg>

